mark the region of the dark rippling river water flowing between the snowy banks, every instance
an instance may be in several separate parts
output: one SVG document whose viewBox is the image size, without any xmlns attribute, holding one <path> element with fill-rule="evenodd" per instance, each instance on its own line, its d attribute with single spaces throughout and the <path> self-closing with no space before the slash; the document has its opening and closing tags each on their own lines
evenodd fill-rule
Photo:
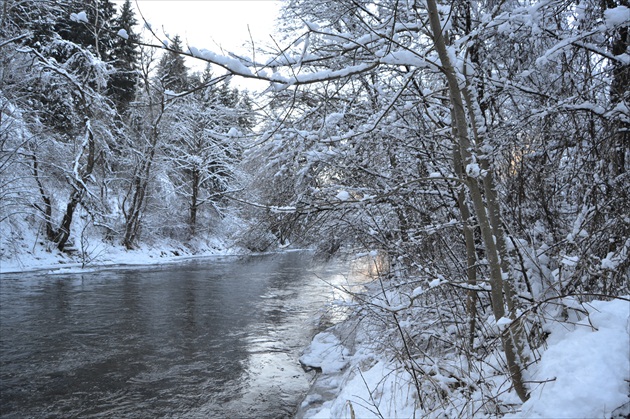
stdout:
<svg viewBox="0 0 630 419">
<path fill-rule="evenodd" d="M 0 279 L 2 417 L 290 417 L 343 264 L 304 253 Z"/>
</svg>

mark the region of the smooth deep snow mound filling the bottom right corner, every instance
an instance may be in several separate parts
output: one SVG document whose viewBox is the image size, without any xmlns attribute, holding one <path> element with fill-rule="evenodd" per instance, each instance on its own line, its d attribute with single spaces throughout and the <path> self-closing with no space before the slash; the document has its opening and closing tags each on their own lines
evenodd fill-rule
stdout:
<svg viewBox="0 0 630 419">
<path fill-rule="evenodd" d="M 630 400 L 630 302 L 585 304 L 575 325 L 557 323 L 540 362 L 530 368 L 541 382 L 523 404 L 521 418 L 610 418 Z"/>
</svg>

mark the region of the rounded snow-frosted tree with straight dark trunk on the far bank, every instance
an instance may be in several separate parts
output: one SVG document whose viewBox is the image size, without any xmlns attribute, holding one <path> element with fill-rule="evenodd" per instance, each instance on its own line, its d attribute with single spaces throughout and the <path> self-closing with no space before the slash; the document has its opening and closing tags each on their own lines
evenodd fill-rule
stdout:
<svg viewBox="0 0 630 419">
<path fill-rule="evenodd" d="M 196 91 L 173 100 L 164 121 L 164 164 L 186 203 L 182 212 L 188 214 L 191 236 L 223 216 L 224 194 L 236 181 L 242 137 L 251 128 L 243 124 L 250 110 L 243 107 L 241 94 L 222 79 L 206 71 Z"/>
</svg>

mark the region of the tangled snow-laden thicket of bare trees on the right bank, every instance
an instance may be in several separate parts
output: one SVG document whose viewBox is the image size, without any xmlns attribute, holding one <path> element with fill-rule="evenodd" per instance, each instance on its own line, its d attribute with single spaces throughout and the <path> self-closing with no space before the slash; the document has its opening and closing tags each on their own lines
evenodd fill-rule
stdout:
<svg viewBox="0 0 630 419">
<path fill-rule="evenodd" d="M 473 347 L 489 297 L 525 400 L 544 320 L 521 313 L 567 293 L 628 291 L 628 10 L 296 0 L 285 13 L 302 23 L 275 58 L 190 55 L 277 92 L 256 151 L 271 157 L 268 208 L 284 231 L 333 219 L 358 241 L 377 237 L 419 280 L 466 288 Z M 360 214 L 382 239 L 361 231 Z"/>
</svg>

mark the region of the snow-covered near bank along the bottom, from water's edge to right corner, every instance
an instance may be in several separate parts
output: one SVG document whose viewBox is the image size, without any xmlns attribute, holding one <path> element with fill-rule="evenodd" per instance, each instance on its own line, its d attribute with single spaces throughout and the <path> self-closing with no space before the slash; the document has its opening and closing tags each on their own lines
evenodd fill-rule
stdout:
<svg viewBox="0 0 630 419">
<path fill-rule="evenodd" d="M 423 411 L 407 369 L 375 345 L 382 334 L 356 319 L 338 325 L 316 336 L 301 359 L 322 372 L 298 417 L 625 418 L 630 413 L 630 302 L 628 297 L 594 301 L 583 309 L 586 313 L 577 322 L 548 324 L 546 349 L 528 369 L 530 399 L 520 404 L 504 385 L 492 395 L 498 402 L 494 411 L 481 401 L 479 391 L 468 396 L 479 397 L 477 401 L 457 400 L 462 393 L 449 390 L 453 378 L 441 373 L 449 361 L 436 358 L 426 360 L 435 365 L 431 376 L 419 380 L 431 381 L 451 399 L 442 402 L 444 408 Z M 507 382 L 504 376 L 485 379 Z"/>
</svg>

